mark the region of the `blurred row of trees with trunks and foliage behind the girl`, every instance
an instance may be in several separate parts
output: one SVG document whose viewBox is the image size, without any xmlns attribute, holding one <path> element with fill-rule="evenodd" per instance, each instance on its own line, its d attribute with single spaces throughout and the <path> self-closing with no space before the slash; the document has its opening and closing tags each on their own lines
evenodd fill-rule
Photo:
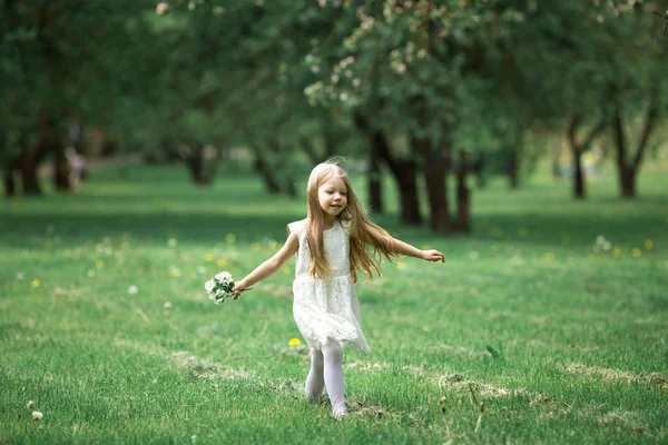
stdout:
<svg viewBox="0 0 668 445">
<path fill-rule="evenodd" d="M 538 159 L 619 196 L 666 138 L 668 2 L 636 0 L 0 0 L 4 192 L 72 189 L 72 157 L 180 161 L 200 186 L 244 157 L 267 191 L 354 158 L 382 212 L 471 227 L 471 180 L 521 186 Z M 562 166 L 561 141 L 570 165 Z M 510 191 L 509 191 L 510 192 Z M 421 194 L 425 195 L 422 199 Z M 421 208 L 426 204 L 428 208 Z M 426 215 L 426 218 L 424 218 Z"/>
</svg>

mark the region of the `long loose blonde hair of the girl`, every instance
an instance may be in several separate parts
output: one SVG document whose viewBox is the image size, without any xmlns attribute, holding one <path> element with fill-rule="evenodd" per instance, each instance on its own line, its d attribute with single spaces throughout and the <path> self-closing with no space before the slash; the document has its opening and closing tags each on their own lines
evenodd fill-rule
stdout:
<svg viewBox="0 0 668 445">
<path fill-rule="evenodd" d="M 350 228 L 350 264 L 353 281 L 357 281 L 357 270 L 373 278 L 373 273 L 381 276 L 381 260 L 385 257 L 389 261 L 397 258 L 391 250 L 390 234 L 382 227 L 375 225 L 364 211 L 360 204 L 347 174 L 338 167 L 334 159 L 327 159 L 318 164 L 311 171 L 306 187 L 307 216 L 306 216 L 306 240 L 311 251 L 310 275 L 314 278 L 327 279 L 333 268 L 325 257 L 323 230 L 325 229 L 324 210 L 320 206 L 317 196 L 318 188 L 331 177 L 338 176 L 347 188 L 347 205 L 336 216 L 344 227 Z M 367 249 L 369 247 L 369 249 Z"/>
</svg>

